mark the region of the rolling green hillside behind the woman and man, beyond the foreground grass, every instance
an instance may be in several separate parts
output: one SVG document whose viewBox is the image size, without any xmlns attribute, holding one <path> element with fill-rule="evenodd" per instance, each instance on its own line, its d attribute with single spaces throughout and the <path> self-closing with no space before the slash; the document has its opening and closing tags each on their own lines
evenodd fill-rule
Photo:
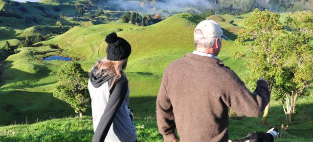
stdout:
<svg viewBox="0 0 313 142">
<path fill-rule="evenodd" d="M 12 120 L 22 122 L 26 117 L 31 122 L 37 117 L 45 120 L 49 116 L 62 117 L 73 114 L 65 102 L 52 96 L 53 86 L 57 82 L 56 73 L 64 61 L 47 62 L 41 59 L 51 55 L 69 56 L 82 60 L 79 62 L 86 71 L 89 71 L 97 59 L 105 57 L 107 45 L 103 39 L 112 31 L 117 32 L 118 36 L 125 38 L 132 45 L 132 55 L 126 71 L 133 88 L 131 106 L 142 112 L 141 115 L 153 113 L 155 97 L 165 67 L 169 62 L 193 51 L 193 30 L 200 20 L 198 16 L 183 13 L 148 27 L 120 22 L 88 27 L 76 26 L 62 35 L 34 44 L 58 44 L 64 51 L 48 46 L 19 48 L 19 53 L 9 56 L 0 68 L 0 72 L 3 73 L 0 103 L 6 108 L 0 109 L 0 113 L 5 115 L 0 118 L 0 122 L 5 124 L 11 123 Z M 239 22 L 236 18 L 234 20 L 236 20 L 234 23 Z M 226 26 L 227 23 L 225 29 L 232 30 Z M 229 37 L 233 34 L 229 33 Z M 234 60 L 229 57 L 234 50 L 246 49 L 234 47 L 233 41 L 223 41 L 223 44 L 224 48 L 219 58 L 229 63 L 240 76 L 245 77 L 243 61 L 233 63 Z M 24 98 L 20 100 L 12 98 L 18 96 Z M 149 107 L 140 107 L 141 104 L 149 104 Z M 45 113 L 47 111 L 49 113 Z"/>
</svg>

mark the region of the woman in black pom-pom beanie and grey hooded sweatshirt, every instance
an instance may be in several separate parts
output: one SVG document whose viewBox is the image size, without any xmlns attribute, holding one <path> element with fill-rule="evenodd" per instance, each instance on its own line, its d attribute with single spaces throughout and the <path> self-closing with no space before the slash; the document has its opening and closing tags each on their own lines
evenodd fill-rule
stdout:
<svg viewBox="0 0 313 142">
<path fill-rule="evenodd" d="M 129 87 L 123 72 L 131 45 L 113 32 L 106 37 L 107 59 L 97 61 L 88 81 L 94 135 L 92 142 L 135 142 L 128 109 Z"/>
</svg>

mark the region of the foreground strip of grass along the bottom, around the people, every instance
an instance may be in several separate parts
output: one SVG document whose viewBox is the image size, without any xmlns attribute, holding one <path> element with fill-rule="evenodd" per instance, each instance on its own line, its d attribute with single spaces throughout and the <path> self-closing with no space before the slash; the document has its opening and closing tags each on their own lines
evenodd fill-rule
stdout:
<svg viewBox="0 0 313 142">
<path fill-rule="evenodd" d="M 272 110 L 272 109 L 271 109 Z M 272 111 L 270 111 L 272 112 Z M 242 138 L 251 131 L 266 131 L 267 126 L 259 125 L 260 119 L 244 118 L 243 120 L 230 120 L 230 140 Z M 134 125 L 139 142 L 162 142 L 157 131 L 156 116 L 134 117 Z M 279 128 L 280 123 L 277 123 Z M 279 128 L 280 129 L 280 128 Z M 297 130 L 301 129 L 301 136 Z M 275 142 L 310 142 L 313 141 L 311 133 L 313 122 L 291 125 L 287 132 L 280 132 Z M 32 133 L 29 133 L 32 132 Z M 0 127 L 0 141 L 3 142 L 89 142 L 92 139 L 92 118 L 85 116 L 82 119 L 69 117 L 64 119 L 51 119 L 34 124 L 12 124 Z"/>
</svg>

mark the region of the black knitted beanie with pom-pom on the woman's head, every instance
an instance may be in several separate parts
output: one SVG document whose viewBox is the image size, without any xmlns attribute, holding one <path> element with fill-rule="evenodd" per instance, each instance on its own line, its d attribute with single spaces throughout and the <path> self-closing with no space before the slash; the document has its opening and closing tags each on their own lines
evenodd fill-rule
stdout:
<svg viewBox="0 0 313 142">
<path fill-rule="evenodd" d="M 107 59 L 110 61 L 125 60 L 132 53 L 131 45 L 125 39 L 117 37 L 115 32 L 109 34 L 105 41 L 108 43 Z"/>
</svg>

